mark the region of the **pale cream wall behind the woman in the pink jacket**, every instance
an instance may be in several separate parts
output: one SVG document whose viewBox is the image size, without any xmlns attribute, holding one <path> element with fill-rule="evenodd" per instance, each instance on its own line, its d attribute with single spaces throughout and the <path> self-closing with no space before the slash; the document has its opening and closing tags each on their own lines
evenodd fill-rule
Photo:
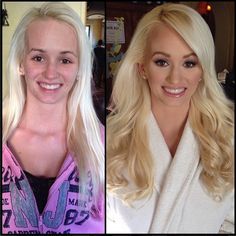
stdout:
<svg viewBox="0 0 236 236">
<path fill-rule="evenodd" d="M 8 22 L 10 26 L 2 27 L 2 76 L 3 76 L 3 95 L 6 93 L 6 63 L 10 47 L 10 40 L 13 35 L 13 32 L 20 21 L 24 13 L 31 7 L 39 6 L 43 2 L 5 2 L 7 13 L 8 13 Z M 85 24 L 86 21 L 86 2 L 65 2 L 70 7 L 72 7 L 81 17 L 82 22 Z M 4 6 L 4 2 L 2 4 Z"/>
</svg>

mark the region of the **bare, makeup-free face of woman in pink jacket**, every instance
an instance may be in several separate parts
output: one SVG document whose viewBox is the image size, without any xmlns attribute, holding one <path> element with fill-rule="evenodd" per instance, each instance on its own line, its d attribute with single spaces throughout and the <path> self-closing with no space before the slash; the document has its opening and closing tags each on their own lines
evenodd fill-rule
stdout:
<svg viewBox="0 0 236 236">
<path fill-rule="evenodd" d="M 32 22 L 20 66 L 27 99 L 65 103 L 78 72 L 78 51 L 76 33 L 70 25 L 53 19 Z"/>
</svg>

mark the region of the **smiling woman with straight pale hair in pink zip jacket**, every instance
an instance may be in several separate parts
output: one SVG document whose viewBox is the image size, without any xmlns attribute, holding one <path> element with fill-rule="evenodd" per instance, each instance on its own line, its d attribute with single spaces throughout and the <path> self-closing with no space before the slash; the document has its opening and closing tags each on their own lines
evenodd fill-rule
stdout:
<svg viewBox="0 0 236 236">
<path fill-rule="evenodd" d="M 3 102 L 2 233 L 104 233 L 103 128 L 92 48 L 63 3 L 30 9 L 12 37 Z"/>
</svg>

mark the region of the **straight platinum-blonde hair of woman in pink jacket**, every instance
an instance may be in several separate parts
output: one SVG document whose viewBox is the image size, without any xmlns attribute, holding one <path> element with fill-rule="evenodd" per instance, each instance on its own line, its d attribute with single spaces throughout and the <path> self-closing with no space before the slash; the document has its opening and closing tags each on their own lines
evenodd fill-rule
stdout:
<svg viewBox="0 0 236 236">
<path fill-rule="evenodd" d="M 39 8 L 30 9 L 14 32 L 7 66 L 9 93 L 3 102 L 3 143 L 6 143 L 17 128 L 27 99 L 26 85 L 19 74 L 26 47 L 27 28 L 31 22 L 47 18 L 71 25 L 77 34 L 80 52 L 79 79 L 73 86 L 67 103 L 67 145 L 76 160 L 80 183 L 82 182 L 84 189 L 87 175 L 92 173 L 94 203 L 97 204 L 98 197 L 104 192 L 104 147 L 91 94 L 92 48 L 80 17 L 66 4 L 45 3 Z"/>
</svg>

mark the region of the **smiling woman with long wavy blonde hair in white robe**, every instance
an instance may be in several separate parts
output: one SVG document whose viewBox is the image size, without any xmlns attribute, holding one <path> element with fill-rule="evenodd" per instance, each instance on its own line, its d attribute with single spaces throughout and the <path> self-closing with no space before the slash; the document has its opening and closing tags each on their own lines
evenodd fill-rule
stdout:
<svg viewBox="0 0 236 236">
<path fill-rule="evenodd" d="M 138 23 L 107 119 L 107 232 L 233 232 L 233 106 L 192 8 Z"/>
</svg>

